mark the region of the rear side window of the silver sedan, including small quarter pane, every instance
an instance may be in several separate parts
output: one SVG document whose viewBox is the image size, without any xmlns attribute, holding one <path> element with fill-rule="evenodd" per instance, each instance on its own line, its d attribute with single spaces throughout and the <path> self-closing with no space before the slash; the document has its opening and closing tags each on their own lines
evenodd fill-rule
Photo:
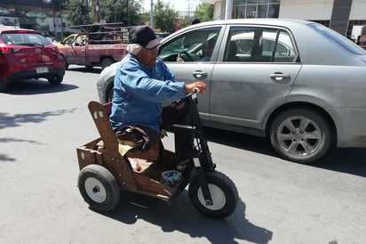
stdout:
<svg viewBox="0 0 366 244">
<path fill-rule="evenodd" d="M 291 62 L 297 51 L 283 29 L 232 27 L 224 57 L 224 61 Z"/>
</svg>

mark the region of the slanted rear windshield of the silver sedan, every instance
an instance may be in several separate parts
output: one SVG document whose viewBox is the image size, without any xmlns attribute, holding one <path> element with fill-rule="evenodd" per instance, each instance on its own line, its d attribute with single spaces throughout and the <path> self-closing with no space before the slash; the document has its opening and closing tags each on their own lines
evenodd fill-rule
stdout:
<svg viewBox="0 0 366 244">
<path fill-rule="evenodd" d="M 338 43 L 338 45 L 343 46 L 351 53 L 357 54 L 357 55 L 366 55 L 365 50 L 362 49 L 362 47 L 354 44 L 352 41 L 348 40 L 346 37 L 343 37 L 342 35 L 338 34 L 338 32 L 326 28 L 322 26 L 321 24 L 313 23 L 309 24 L 311 28 L 314 28 L 317 32 L 321 33 L 322 36 L 329 38 L 330 40 Z"/>
</svg>

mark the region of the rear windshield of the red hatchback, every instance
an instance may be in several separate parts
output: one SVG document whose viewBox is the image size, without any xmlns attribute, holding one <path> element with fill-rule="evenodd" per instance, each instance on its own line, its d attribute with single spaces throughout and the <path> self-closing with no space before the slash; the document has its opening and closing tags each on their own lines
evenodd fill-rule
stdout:
<svg viewBox="0 0 366 244">
<path fill-rule="evenodd" d="M 46 37 L 37 33 L 5 32 L 1 35 L 7 45 L 50 45 Z"/>
</svg>

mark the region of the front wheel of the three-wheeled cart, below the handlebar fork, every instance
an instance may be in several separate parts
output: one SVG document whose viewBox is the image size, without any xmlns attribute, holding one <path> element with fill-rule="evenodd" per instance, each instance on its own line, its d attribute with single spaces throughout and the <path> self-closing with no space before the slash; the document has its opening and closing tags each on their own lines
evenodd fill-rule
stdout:
<svg viewBox="0 0 366 244">
<path fill-rule="evenodd" d="M 192 205 L 204 216 L 224 218 L 234 213 L 239 195 L 235 184 L 218 171 L 205 174 L 212 198 L 212 206 L 204 204 L 203 192 L 198 178 L 189 183 L 188 195 Z"/>
</svg>

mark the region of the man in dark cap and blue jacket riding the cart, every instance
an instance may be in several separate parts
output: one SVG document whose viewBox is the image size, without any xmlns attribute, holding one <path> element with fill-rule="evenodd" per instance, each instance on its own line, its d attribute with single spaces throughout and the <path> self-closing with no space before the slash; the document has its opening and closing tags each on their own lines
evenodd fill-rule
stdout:
<svg viewBox="0 0 366 244">
<path fill-rule="evenodd" d="M 189 108 L 182 103 L 178 108 L 163 107 L 162 102 L 173 102 L 194 88 L 204 94 L 206 84 L 201 81 L 185 84 L 177 81 L 167 66 L 157 58 L 161 45 L 153 29 L 147 26 L 131 28 L 128 54 L 120 61 L 115 72 L 111 125 L 118 138 L 123 139 L 126 126 L 138 128 L 133 136 L 143 139 L 143 150 L 151 148 L 160 139 L 160 130 L 174 124 L 190 124 Z M 136 141 L 140 141 L 136 139 Z M 190 157 L 193 138 L 185 131 L 175 134 L 175 152 L 179 161 Z"/>
</svg>

